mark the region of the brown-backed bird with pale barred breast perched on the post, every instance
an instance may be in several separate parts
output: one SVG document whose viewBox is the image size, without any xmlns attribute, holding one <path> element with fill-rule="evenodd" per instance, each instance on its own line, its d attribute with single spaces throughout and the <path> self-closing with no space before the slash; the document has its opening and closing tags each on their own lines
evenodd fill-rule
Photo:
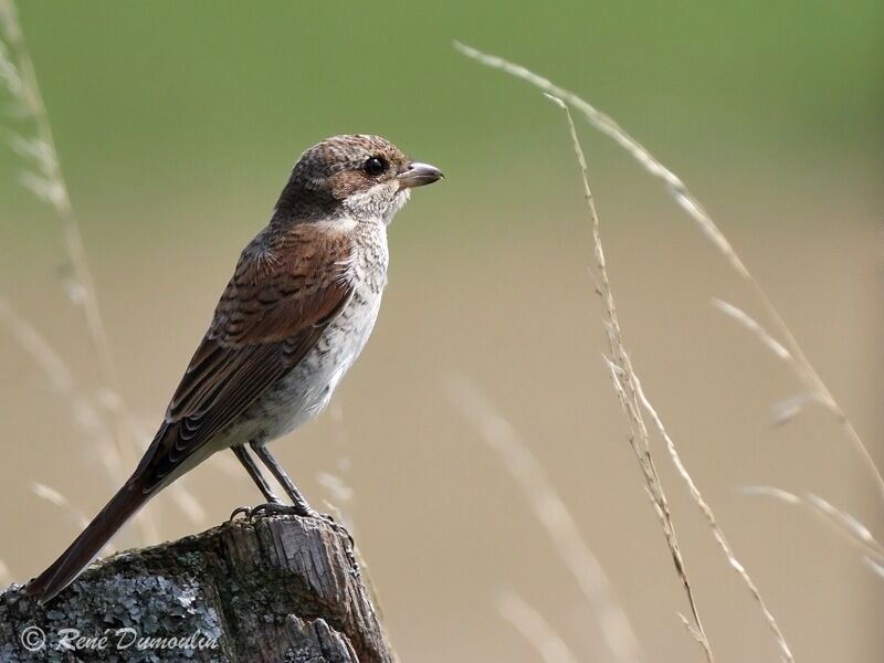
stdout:
<svg viewBox="0 0 884 663">
<path fill-rule="evenodd" d="M 317 516 L 266 444 L 328 403 L 378 316 L 387 227 L 414 187 L 442 177 L 380 136 L 333 136 L 304 151 L 270 222 L 242 251 L 138 466 L 25 592 L 41 604 L 53 599 L 151 497 L 225 449 L 270 507 Z"/>
</svg>

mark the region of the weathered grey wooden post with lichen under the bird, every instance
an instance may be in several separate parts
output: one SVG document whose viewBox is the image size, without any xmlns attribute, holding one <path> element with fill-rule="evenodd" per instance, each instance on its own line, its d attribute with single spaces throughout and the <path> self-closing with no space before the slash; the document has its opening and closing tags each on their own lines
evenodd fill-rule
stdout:
<svg viewBox="0 0 884 663">
<path fill-rule="evenodd" d="M 393 661 L 346 534 L 239 519 L 114 555 L 46 606 L 0 593 L 0 662 Z"/>
</svg>

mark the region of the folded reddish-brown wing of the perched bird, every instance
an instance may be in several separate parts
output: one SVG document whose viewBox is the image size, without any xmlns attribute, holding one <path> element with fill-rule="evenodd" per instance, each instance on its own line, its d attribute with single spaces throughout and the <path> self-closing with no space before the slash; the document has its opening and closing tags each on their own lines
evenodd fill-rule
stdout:
<svg viewBox="0 0 884 663">
<path fill-rule="evenodd" d="M 351 244 L 305 223 L 243 251 L 136 474 L 152 491 L 291 371 L 352 294 Z"/>
</svg>

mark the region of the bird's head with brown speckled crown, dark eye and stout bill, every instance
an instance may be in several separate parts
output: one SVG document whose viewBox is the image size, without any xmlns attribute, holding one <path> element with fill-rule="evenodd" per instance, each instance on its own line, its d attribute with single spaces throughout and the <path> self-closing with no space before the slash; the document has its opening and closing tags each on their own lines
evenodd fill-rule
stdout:
<svg viewBox="0 0 884 663">
<path fill-rule="evenodd" d="M 301 155 L 276 215 L 296 221 L 347 215 L 389 223 L 412 187 L 441 177 L 438 168 L 409 159 L 380 136 L 333 136 Z"/>
</svg>

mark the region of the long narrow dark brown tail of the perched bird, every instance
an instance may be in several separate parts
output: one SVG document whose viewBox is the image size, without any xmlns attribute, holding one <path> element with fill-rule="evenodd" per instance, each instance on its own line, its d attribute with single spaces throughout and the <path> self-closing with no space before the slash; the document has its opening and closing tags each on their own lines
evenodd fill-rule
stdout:
<svg viewBox="0 0 884 663">
<path fill-rule="evenodd" d="M 152 495 L 152 491 L 147 494 L 144 492 L 139 481 L 127 481 L 61 557 L 31 580 L 24 591 L 36 597 L 41 604 L 52 599 L 80 576 L 110 537 Z"/>
</svg>

